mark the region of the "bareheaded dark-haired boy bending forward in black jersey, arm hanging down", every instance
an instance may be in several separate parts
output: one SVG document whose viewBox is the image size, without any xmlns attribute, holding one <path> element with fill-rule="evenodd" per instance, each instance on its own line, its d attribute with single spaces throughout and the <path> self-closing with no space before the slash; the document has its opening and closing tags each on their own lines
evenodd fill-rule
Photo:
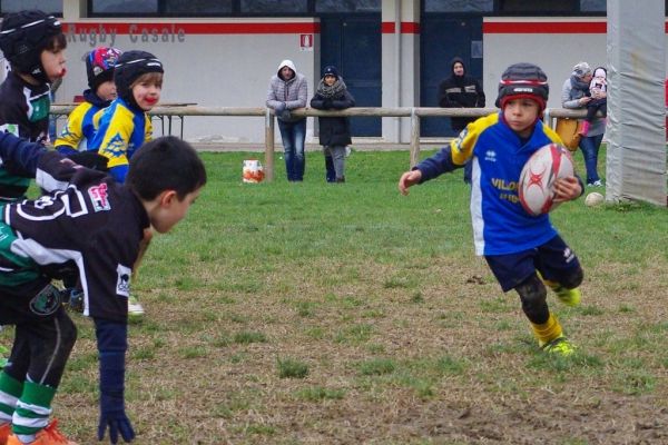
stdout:
<svg viewBox="0 0 668 445">
<path fill-rule="evenodd" d="M 130 442 L 124 389 L 132 269 L 151 228 L 167 233 L 186 216 L 206 184 L 205 167 L 174 137 L 145 145 L 125 184 L 12 135 L 0 135 L 0 161 L 37 178 L 46 191 L 0 211 L 0 324 L 16 326 L 0 372 L 0 445 L 73 444 L 49 422 L 77 338 L 51 280 L 71 273 L 84 289 L 84 314 L 95 324 L 98 439 L 108 432 L 114 444 L 119 436 Z"/>
</svg>

